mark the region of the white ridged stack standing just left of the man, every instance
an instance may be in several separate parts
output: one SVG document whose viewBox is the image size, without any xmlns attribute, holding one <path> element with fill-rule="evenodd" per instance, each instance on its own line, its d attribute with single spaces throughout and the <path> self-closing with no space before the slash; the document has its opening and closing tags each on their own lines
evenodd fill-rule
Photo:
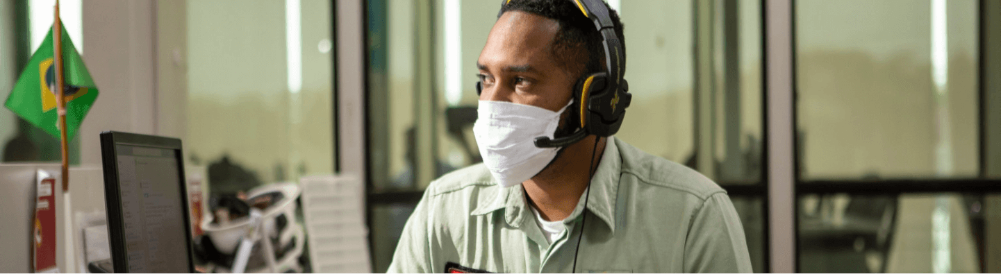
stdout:
<svg viewBox="0 0 1001 274">
<path fill-rule="evenodd" d="M 361 181 L 344 176 L 299 180 L 315 273 L 371 273 Z"/>
</svg>

